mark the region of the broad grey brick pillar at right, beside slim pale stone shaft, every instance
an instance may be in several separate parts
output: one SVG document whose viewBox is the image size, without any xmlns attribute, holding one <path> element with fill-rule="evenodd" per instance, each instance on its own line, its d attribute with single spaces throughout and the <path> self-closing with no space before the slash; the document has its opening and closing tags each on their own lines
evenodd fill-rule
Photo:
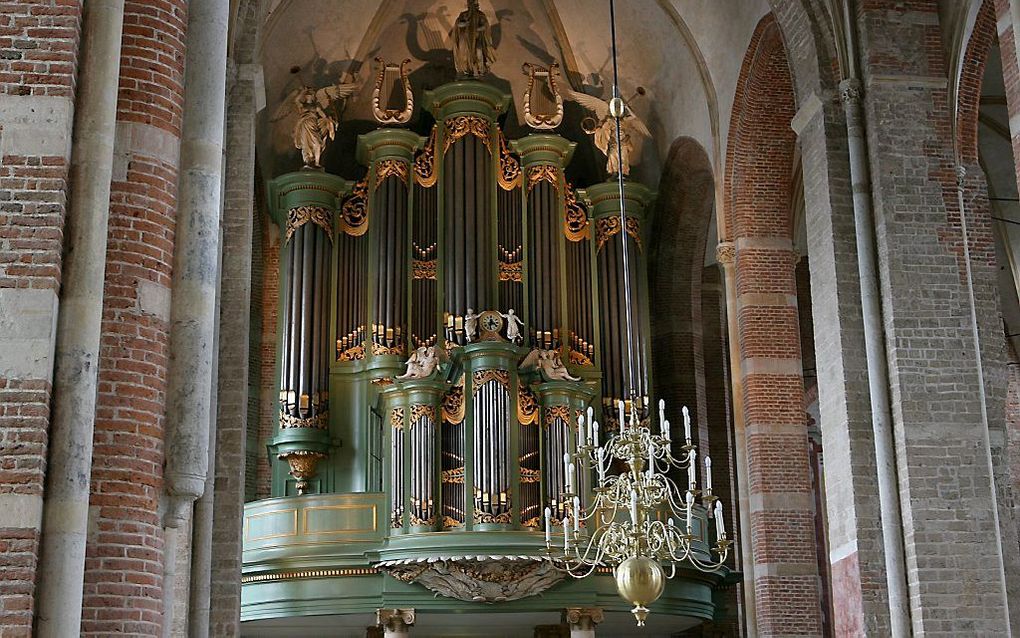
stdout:
<svg viewBox="0 0 1020 638">
<path fill-rule="evenodd" d="M 982 388 L 975 346 L 998 315 L 993 260 L 970 203 L 970 263 L 963 246 L 937 5 L 862 3 L 857 21 L 913 630 L 1006 635 L 1016 547 L 1000 546 L 989 454 L 1005 384 Z"/>
</svg>

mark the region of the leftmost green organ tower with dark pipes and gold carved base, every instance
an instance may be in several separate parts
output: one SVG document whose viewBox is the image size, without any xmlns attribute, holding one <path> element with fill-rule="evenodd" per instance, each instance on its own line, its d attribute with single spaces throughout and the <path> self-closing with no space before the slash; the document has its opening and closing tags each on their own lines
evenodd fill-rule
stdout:
<svg viewBox="0 0 1020 638">
<path fill-rule="evenodd" d="M 322 490 L 319 464 L 329 435 L 328 303 L 335 226 L 347 181 L 318 171 L 292 173 L 269 186 L 284 241 L 279 259 L 279 411 L 271 453 L 277 494 Z M 289 477 L 288 477 L 289 475 Z"/>
</svg>

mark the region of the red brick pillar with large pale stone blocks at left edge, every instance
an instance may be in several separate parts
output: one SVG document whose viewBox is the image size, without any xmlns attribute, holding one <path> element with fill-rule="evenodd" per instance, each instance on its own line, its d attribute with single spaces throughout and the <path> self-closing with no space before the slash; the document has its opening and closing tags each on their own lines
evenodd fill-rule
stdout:
<svg viewBox="0 0 1020 638">
<path fill-rule="evenodd" d="M 0 3 L 0 635 L 39 557 L 82 3 Z"/>
</svg>

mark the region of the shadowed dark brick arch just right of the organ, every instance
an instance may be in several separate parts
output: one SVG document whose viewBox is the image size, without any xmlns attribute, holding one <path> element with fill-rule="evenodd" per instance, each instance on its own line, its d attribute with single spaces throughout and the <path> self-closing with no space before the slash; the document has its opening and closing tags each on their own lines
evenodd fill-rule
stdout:
<svg viewBox="0 0 1020 638">
<path fill-rule="evenodd" d="M 715 177 L 705 149 L 692 138 L 669 148 L 655 213 L 649 279 L 652 307 L 652 379 L 666 399 L 670 423 L 680 407 L 695 415 L 700 445 L 708 444 L 702 275 L 705 242 L 715 206 Z M 705 448 L 707 449 L 707 448 Z"/>
</svg>

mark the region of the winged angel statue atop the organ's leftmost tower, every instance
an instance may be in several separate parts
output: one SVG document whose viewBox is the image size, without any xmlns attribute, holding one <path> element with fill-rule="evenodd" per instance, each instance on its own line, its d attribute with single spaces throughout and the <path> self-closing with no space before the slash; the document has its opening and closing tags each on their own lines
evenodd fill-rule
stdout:
<svg viewBox="0 0 1020 638">
<path fill-rule="evenodd" d="M 337 137 L 340 112 L 335 108 L 337 100 L 347 99 L 357 90 L 355 83 L 342 83 L 313 89 L 301 86 L 291 92 L 276 110 L 272 121 L 283 119 L 297 112 L 294 122 L 294 146 L 301 149 L 305 166 L 319 168 L 319 157 L 326 142 Z"/>
</svg>

